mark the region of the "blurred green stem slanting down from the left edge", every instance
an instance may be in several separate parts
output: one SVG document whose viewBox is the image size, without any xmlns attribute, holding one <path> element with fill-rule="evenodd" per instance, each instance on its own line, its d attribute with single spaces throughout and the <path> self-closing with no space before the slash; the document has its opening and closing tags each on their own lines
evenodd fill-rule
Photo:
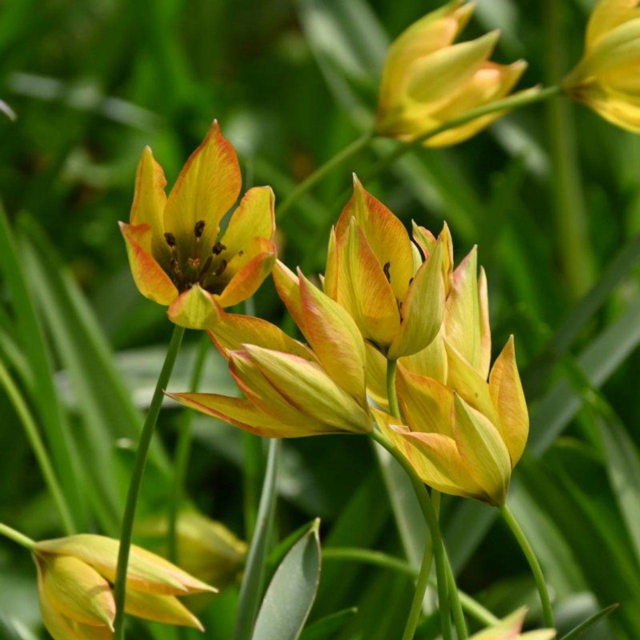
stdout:
<svg viewBox="0 0 640 640">
<path fill-rule="evenodd" d="M 31 412 L 29 411 L 27 403 L 24 401 L 24 397 L 22 397 L 19 388 L 15 385 L 13 378 L 2 362 L 0 362 L 0 385 L 4 388 L 4 392 L 6 392 L 6 395 L 13 404 L 13 408 L 15 409 L 20 422 L 22 422 L 24 432 L 26 433 L 31 449 L 33 449 L 33 453 L 38 461 L 40 471 L 42 471 L 42 476 L 44 476 L 44 481 L 47 484 L 51 497 L 53 498 L 56 508 L 58 508 L 58 512 L 60 513 L 63 529 L 67 535 L 70 535 L 74 532 L 73 518 L 67 504 L 67 500 L 65 499 L 65 495 L 58 483 L 56 473 L 53 470 L 53 465 L 49 459 L 47 447 L 45 447 L 44 442 L 42 442 L 40 432 L 38 431 L 38 427 L 33 419 L 33 415 L 31 415 Z"/>
</svg>

